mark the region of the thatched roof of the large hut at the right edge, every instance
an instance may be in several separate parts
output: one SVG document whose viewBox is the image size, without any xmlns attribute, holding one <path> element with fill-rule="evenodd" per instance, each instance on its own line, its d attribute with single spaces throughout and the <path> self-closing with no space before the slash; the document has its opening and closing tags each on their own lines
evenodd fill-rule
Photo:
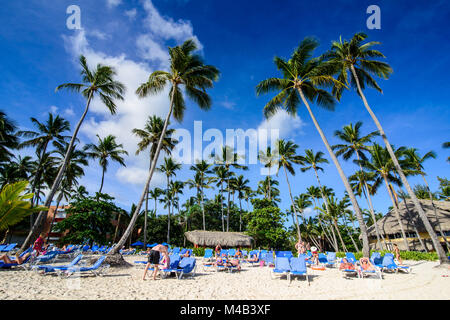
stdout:
<svg viewBox="0 0 450 320">
<path fill-rule="evenodd" d="M 419 201 L 434 230 L 439 231 L 431 200 Z M 442 231 L 450 230 L 450 201 L 433 200 L 433 203 L 436 207 L 436 214 L 438 216 Z M 398 212 L 405 232 L 415 232 L 414 225 L 416 225 L 419 232 L 426 232 L 425 226 L 423 225 L 412 200 L 407 199 L 406 206 L 405 202 L 402 201 L 399 204 Z M 380 233 L 383 235 L 401 232 L 394 209 L 389 211 L 389 213 L 386 214 L 382 219 L 378 220 L 377 225 Z M 369 236 L 376 236 L 375 225 L 367 228 L 367 232 Z"/>
</svg>

